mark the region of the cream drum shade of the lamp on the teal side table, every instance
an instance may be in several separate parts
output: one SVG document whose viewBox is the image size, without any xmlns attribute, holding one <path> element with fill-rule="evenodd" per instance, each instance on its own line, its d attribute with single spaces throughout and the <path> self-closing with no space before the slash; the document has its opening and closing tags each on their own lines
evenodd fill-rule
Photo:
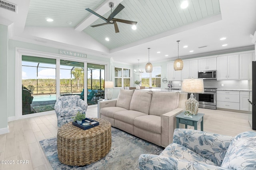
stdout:
<svg viewBox="0 0 256 170">
<path fill-rule="evenodd" d="M 188 92 L 188 93 L 203 93 L 204 80 L 203 79 L 183 79 L 181 91 Z"/>
</svg>

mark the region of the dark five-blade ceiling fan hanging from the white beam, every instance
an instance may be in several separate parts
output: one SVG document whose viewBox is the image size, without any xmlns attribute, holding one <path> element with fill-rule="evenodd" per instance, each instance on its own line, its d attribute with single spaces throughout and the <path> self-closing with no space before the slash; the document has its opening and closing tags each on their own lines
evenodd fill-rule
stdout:
<svg viewBox="0 0 256 170">
<path fill-rule="evenodd" d="M 102 20 L 106 21 L 106 23 L 97 24 L 97 25 L 94 25 L 94 26 L 91 26 L 91 27 L 98 27 L 98 26 L 104 26 L 104 25 L 108 25 L 108 24 L 114 24 L 115 31 L 116 31 L 116 33 L 118 33 L 119 29 L 118 29 L 118 26 L 117 26 L 116 22 L 122 22 L 122 23 L 125 23 L 125 24 L 131 24 L 131 25 L 136 25 L 137 24 L 136 21 L 129 21 L 129 20 L 122 20 L 122 19 L 114 18 L 114 16 L 116 16 L 122 9 L 124 9 L 124 6 L 122 4 L 119 4 L 113 12 L 112 12 L 112 8 L 114 7 L 114 3 L 109 2 L 108 6 L 111 8 L 111 14 L 110 14 L 110 16 L 108 16 L 108 18 L 104 18 L 103 16 L 97 14 L 96 12 L 94 12 L 93 10 L 90 10 L 89 8 L 85 9 L 85 10 L 89 11 L 90 13 L 98 16 Z"/>
</svg>

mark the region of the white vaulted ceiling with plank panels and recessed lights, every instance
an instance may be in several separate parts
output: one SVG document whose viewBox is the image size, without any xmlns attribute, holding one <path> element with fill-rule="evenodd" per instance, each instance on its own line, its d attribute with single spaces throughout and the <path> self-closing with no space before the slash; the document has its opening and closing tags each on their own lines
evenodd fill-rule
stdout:
<svg viewBox="0 0 256 170">
<path fill-rule="evenodd" d="M 129 64 L 146 63 L 148 47 L 150 62 L 171 61 L 201 56 L 216 51 L 241 47 L 253 48 L 250 34 L 256 31 L 256 0 L 8 0 L 18 5 L 18 12 L 0 8 L 0 24 L 9 25 L 10 38 L 50 47 L 80 51 Z M 124 9 L 115 18 L 137 21 L 137 30 L 118 23 L 104 23 L 90 14 L 90 8 L 107 18 L 109 2 Z M 115 8 L 113 8 L 114 10 Z M 46 22 L 47 18 L 54 19 Z M 67 24 L 72 22 L 72 24 Z M 109 42 L 104 39 L 108 37 Z M 226 40 L 219 39 L 226 37 Z M 223 44 L 228 44 L 222 47 Z M 187 48 L 183 48 L 188 45 Z M 202 46 L 204 48 L 198 48 Z M 194 50 L 194 52 L 189 52 Z M 160 53 L 156 53 L 160 51 Z M 165 55 L 168 55 L 167 57 Z"/>
</svg>

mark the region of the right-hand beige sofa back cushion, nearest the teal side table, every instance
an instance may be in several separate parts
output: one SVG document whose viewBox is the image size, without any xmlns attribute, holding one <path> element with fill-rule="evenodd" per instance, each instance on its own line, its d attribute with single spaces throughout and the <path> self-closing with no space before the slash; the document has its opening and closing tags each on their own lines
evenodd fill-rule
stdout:
<svg viewBox="0 0 256 170">
<path fill-rule="evenodd" d="M 149 115 L 161 116 L 168 113 L 179 105 L 178 92 L 161 92 L 154 91 L 152 94 Z"/>
</svg>

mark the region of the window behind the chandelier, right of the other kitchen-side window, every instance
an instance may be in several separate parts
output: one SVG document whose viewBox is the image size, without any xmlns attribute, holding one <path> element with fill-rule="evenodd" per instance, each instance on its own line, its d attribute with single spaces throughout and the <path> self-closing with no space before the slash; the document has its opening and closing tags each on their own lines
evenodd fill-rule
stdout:
<svg viewBox="0 0 256 170">
<path fill-rule="evenodd" d="M 141 75 L 142 86 L 150 87 L 150 78 L 152 82 L 152 87 L 161 87 L 161 67 L 153 67 L 151 73 L 147 73 L 145 69 L 142 69 L 144 73 Z"/>
</svg>

